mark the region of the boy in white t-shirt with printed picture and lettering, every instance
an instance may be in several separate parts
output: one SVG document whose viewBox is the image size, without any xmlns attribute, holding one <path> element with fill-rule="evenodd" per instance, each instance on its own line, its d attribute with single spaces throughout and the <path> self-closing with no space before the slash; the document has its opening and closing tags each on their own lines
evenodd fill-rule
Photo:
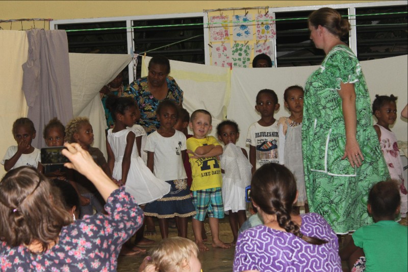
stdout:
<svg viewBox="0 0 408 272">
<path fill-rule="evenodd" d="M 249 144 L 249 162 L 253 172 L 263 164 L 279 163 L 279 135 L 276 119 L 273 117 L 279 109 L 277 95 L 273 90 L 263 89 L 257 94 L 255 109 L 261 114 L 258 122 L 248 129 L 246 143 Z"/>
</svg>

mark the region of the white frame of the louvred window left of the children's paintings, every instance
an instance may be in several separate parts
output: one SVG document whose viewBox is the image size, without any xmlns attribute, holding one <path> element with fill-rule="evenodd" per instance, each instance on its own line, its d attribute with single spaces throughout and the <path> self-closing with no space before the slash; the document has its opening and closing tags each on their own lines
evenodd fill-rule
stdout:
<svg viewBox="0 0 408 272">
<path fill-rule="evenodd" d="M 123 17 L 100 17 L 100 18 L 84 18 L 84 19 L 65 19 L 65 20 L 53 20 L 49 22 L 49 29 L 58 29 L 59 24 L 73 24 L 73 23 L 96 23 L 96 22 L 115 22 L 115 21 L 126 21 L 126 28 L 131 28 L 133 26 L 133 21 L 141 20 L 156 20 L 156 19 L 181 19 L 181 18 L 191 18 L 191 17 L 202 17 L 203 30 L 204 30 L 204 57 L 206 65 L 210 64 L 210 51 L 206 50 L 206 46 L 209 40 L 209 28 L 207 27 L 208 16 L 207 12 L 193 12 L 193 13 L 172 13 L 172 14 L 157 14 L 157 15 L 138 15 L 138 16 L 123 16 Z M 132 48 L 135 48 L 133 41 L 133 29 L 127 29 L 127 54 L 132 54 Z M 128 65 L 129 71 L 133 71 L 133 63 Z M 132 83 L 135 79 L 133 78 L 133 72 L 129 72 L 129 83 Z"/>
</svg>

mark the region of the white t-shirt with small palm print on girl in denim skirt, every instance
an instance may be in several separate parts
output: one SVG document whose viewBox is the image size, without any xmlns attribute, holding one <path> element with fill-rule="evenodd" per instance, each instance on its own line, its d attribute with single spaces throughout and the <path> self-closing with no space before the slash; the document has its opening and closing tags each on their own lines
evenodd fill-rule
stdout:
<svg viewBox="0 0 408 272">
<path fill-rule="evenodd" d="M 186 179 L 182 151 L 186 150 L 186 136 L 175 131 L 171 137 L 163 137 L 157 131 L 149 134 L 144 146 L 146 152 L 155 153 L 154 174 L 164 181 Z"/>
</svg>

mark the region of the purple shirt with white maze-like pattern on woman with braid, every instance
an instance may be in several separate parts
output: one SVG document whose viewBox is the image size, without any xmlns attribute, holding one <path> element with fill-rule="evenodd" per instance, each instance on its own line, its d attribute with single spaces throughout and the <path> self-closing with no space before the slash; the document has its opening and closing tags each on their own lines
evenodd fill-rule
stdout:
<svg viewBox="0 0 408 272">
<path fill-rule="evenodd" d="M 292 233 L 265 225 L 250 228 L 238 237 L 235 247 L 234 272 L 268 271 L 339 271 L 341 261 L 336 233 L 317 213 L 301 215 L 300 231 L 328 241 L 314 245 Z"/>
</svg>

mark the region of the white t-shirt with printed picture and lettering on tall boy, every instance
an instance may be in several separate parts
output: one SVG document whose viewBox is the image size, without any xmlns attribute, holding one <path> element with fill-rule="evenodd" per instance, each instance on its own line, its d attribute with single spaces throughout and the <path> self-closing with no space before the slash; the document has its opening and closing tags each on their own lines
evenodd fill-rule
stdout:
<svg viewBox="0 0 408 272">
<path fill-rule="evenodd" d="M 269 162 L 279 163 L 278 131 L 277 121 L 269 127 L 263 127 L 258 122 L 254 122 L 249 126 L 246 143 L 255 146 L 256 169 Z"/>
</svg>

